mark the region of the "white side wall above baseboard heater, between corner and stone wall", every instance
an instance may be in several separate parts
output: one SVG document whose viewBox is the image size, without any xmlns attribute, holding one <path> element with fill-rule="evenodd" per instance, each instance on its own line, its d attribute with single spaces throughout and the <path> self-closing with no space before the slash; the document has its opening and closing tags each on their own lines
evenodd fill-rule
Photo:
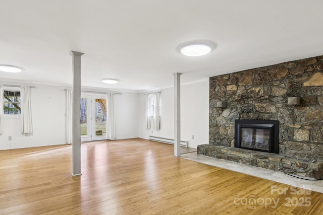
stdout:
<svg viewBox="0 0 323 215">
<path fill-rule="evenodd" d="M 145 128 L 145 96 L 139 94 L 138 127 L 141 138 L 148 139 L 149 135 L 153 135 L 174 139 L 174 88 L 160 91 L 159 130 L 153 129 L 153 126 Z M 187 140 L 191 148 L 208 143 L 208 95 L 208 81 L 181 86 L 181 140 Z"/>
</svg>

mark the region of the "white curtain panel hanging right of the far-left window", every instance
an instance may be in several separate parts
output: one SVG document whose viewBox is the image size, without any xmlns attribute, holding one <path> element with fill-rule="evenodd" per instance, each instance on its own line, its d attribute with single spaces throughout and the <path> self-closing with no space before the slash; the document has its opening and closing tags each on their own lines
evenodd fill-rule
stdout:
<svg viewBox="0 0 323 215">
<path fill-rule="evenodd" d="M 20 90 L 21 98 L 21 132 L 32 133 L 31 122 L 31 92 L 27 86 L 22 86 Z"/>
</svg>

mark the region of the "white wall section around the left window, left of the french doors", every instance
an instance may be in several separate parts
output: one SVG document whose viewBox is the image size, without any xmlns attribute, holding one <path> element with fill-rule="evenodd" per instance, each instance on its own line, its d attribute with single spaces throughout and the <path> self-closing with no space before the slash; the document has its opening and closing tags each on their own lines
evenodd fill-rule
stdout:
<svg viewBox="0 0 323 215">
<path fill-rule="evenodd" d="M 4 117 L 0 150 L 65 144 L 65 92 L 62 88 L 32 85 L 33 133 L 21 133 L 21 118 Z M 12 140 L 8 137 L 12 136 Z"/>
</svg>

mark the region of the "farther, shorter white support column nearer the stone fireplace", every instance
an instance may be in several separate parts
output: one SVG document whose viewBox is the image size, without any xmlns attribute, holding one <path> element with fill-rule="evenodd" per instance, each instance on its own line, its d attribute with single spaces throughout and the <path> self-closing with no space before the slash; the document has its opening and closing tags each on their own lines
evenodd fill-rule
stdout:
<svg viewBox="0 0 323 215">
<path fill-rule="evenodd" d="M 181 157 L 181 73 L 174 73 L 174 156 Z"/>
</svg>

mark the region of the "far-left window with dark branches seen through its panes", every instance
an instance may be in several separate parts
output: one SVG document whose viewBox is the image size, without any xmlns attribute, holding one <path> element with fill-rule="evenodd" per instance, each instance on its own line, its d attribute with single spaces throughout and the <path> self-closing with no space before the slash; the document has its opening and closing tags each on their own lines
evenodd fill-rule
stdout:
<svg viewBox="0 0 323 215">
<path fill-rule="evenodd" d="M 4 90 L 4 114 L 14 116 L 21 114 L 20 88 L 6 88 Z"/>
</svg>

